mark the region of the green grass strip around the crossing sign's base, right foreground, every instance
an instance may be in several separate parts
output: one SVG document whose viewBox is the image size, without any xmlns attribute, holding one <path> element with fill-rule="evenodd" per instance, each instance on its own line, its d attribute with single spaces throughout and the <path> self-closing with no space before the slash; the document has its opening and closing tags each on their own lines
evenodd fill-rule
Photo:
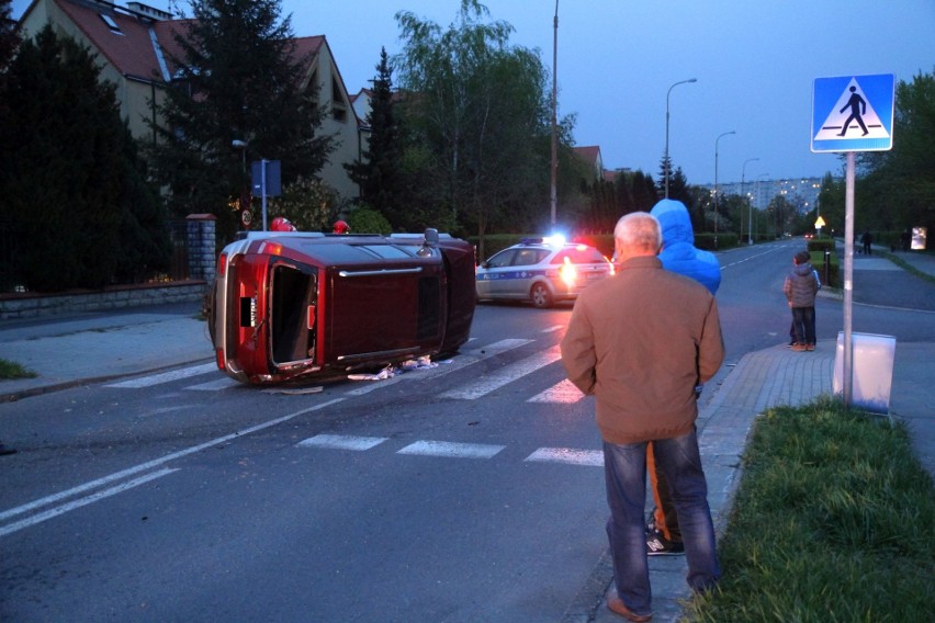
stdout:
<svg viewBox="0 0 935 623">
<path fill-rule="evenodd" d="M 905 622 L 935 613 L 935 487 L 905 426 L 821 398 L 754 424 L 703 622 Z"/>
</svg>

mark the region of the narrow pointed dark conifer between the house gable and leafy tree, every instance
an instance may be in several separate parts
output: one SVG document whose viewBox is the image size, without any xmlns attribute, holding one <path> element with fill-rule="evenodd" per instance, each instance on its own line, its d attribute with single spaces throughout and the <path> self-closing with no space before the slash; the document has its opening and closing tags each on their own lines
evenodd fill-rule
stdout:
<svg viewBox="0 0 935 623">
<path fill-rule="evenodd" d="M 393 70 L 386 48 L 380 50 L 380 64 L 365 123 L 370 128 L 362 158 L 345 165 L 351 180 L 360 185 L 363 203 L 381 212 L 390 223 L 408 229 L 399 202 L 399 127 L 393 102 Z"/>
</svg>

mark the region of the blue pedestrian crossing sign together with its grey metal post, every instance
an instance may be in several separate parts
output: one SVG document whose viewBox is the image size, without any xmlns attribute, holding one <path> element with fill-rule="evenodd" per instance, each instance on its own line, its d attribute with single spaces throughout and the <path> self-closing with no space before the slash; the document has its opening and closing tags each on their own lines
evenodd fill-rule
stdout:
<svg viewBox="0 0 935 623">
<path fill-rule="evenodd" d="M 895 78 L 892 73 L 816 78 L 812 91 L 815 154 L 845 152 L 844 195 L 844 405 L 852 401 L 854 349 L 854 169 L 855 151 L 887 151 L 893 145 Z M 815 223 L 818 227 L 818 223 Z"/>
</svg>

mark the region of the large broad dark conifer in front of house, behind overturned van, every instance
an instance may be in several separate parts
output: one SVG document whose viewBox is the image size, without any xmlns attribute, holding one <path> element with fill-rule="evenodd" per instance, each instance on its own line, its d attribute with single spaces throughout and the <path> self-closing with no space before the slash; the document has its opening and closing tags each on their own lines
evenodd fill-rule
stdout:
<svg viewBox="0 0 935 623">
<path fill-rule="evenodd" d="M 309 59 L 298 57 L 279 0 L 193 0 L 191 9 L 174 33 L 181 54 L 160 106 L 154 165 L 173 212 L 216 215 L 224 242 L 237 229 L 228 206 L 249 188 L 245 162 L 279 160 L 286 185 L 317 173 L 331 146 L 316 136 L 318 94 L 301 83 Z"/>
</svg>

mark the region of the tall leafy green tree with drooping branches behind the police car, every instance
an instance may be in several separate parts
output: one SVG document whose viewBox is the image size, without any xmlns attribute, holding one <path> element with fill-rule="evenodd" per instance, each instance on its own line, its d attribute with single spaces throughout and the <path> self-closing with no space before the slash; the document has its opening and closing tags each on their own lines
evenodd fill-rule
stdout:
<svg viewBox="0 0 935 623">
<path fill-rule="evenodd" d="M 421 167 L 420 183 L 444 197 L 449 222 L 470 223 L 482 238 L 507 212 L 544 205 L 551 132 L 538 55 L 510 47 L 512 26 L 484 23 L 487 14 L 462 0 L 444 31 L 409 12 L 396 15 L 406 42 L 396 66 L 410 162 Z"/>
</svg>

